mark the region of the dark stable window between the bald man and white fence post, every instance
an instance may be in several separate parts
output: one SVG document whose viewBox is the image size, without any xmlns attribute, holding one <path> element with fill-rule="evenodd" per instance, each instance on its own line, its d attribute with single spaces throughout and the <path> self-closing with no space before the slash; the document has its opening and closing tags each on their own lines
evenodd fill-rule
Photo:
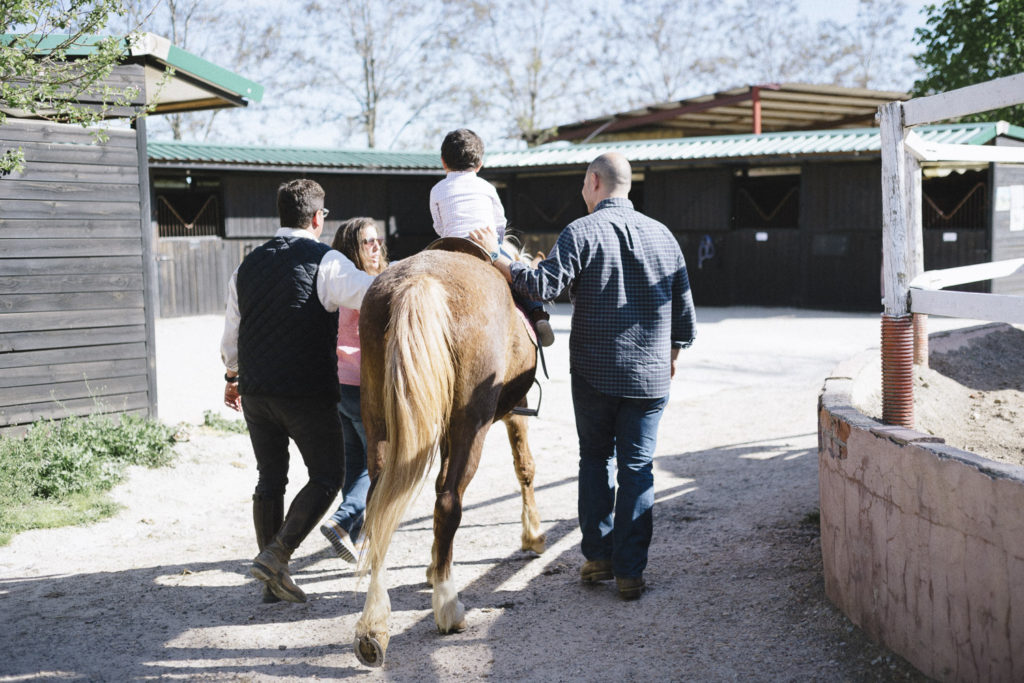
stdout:
<svg viewBox="0 0 1024 683">
<path fill-rule="evenodd" d="M 733 225 L 765 229 L 800 224 L 800 170 L 746 169 L 736 177 Z"/>
</svg>

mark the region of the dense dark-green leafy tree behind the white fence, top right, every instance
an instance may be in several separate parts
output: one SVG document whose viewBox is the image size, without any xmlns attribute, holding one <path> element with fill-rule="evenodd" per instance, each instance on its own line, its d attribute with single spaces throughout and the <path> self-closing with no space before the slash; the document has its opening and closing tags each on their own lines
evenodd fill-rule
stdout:
<svg viewBox="0 0 1024 683">
<path fill-rule="evenodd" d="M 946 0 L 925 8 L 914 40 L 924 78 L 915 95 L 929 95 L 1024 72 L 1024 0 Z M 1024 105 L 965 117 L 1024 124 Z"/>
</svg>

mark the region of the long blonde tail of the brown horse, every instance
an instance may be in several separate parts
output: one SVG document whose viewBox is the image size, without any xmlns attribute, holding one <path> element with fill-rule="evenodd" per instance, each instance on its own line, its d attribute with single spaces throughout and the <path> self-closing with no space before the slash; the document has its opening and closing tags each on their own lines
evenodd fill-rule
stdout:
<svg viewBox="0 0 1024 683">
<path fill-rule="evenodd" d="M 369 552 L 360 571 L 383 566 L 391 536 L 430 468 L 441 425 L 452 412 L 455 366 L 444 286 L 429 275 L 411 279 L 391 301 L 381 392 L 387 443 L 367 505 Z"/>
</svg>

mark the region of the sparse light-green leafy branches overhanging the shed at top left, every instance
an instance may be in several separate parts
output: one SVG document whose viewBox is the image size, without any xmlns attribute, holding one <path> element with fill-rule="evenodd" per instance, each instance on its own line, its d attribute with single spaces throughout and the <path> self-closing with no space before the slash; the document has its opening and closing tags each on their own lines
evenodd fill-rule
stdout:
<svg viewBox="0 0 1024 683">
<path fill-rule="evenodd" d="M 104 85 L 125 54 L 124 38 L 99 38 L 121 0 L 0 2 L 0 125 L 8 114 L 94 126 L 127 106 L 137 88 Z M 83 102 L 98 102 L 89 104 Z M 134 116 L 142 114 L 138 108 Z M 97 135 L 102 137 L 101 130 Z M 0 173 L 20 170 L 25 156 L 7 150 Z"/>
</svg>

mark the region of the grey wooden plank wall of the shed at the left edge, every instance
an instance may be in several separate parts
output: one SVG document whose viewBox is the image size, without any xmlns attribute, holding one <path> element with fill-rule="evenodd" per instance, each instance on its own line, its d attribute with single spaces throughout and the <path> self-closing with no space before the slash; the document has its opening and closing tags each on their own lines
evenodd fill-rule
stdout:
<svg viewBox="0 0 1024 683">
<path fill-rule="evenodd" d="M 0 147 L 0 430 L 155 407 L 134 130 L 8 119 Z"/>
</svg>

